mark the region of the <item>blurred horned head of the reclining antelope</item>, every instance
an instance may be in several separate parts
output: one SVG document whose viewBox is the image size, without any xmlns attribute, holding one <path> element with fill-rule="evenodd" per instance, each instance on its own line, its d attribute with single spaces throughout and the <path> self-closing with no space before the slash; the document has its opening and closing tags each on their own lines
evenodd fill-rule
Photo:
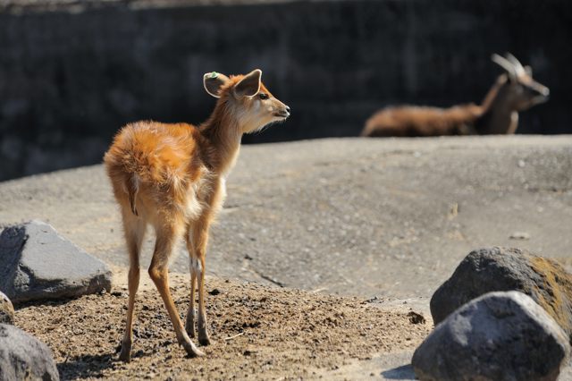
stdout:
<svg viewBox="0 0 572 381">
<path fill-rule="evenodd" d="M 514 55 L 507 53 L 492 55 L 492 61 L 498 63 L 506 71 L 505 83 L 500 89 L 507 104 L 516 111 L 544 103 L 548 100 L 550 90 L 533 80 L 533 71 L 530 66 L 523 66 Z"/>
</svg>

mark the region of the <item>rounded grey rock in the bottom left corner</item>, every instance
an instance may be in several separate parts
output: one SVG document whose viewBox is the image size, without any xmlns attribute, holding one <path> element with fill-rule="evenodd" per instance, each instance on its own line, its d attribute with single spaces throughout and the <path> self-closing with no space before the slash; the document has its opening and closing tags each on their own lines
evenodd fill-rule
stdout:
<svg viewBox="0 0 572 381">
<path fill-rule="evenodd" d="M 0 380 L 59 380 L 52 351 L 20 328 L 0 324 Z"/>
</svg>

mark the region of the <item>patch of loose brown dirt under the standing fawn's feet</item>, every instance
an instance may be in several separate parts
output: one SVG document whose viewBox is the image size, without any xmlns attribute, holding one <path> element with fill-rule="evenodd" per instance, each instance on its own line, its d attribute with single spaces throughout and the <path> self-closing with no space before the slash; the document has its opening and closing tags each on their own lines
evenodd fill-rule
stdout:
<svg viewBox="0 0 572 381">
<path fill-rule="evenodd" d="M 115 274 L 124 279 L 122 271 Z M 186 276 L 172 275 L 181 318 L 189 304 L 188 282 Z M 321 378 L 324 371 L 356 360 L 414 350 L 433 326 L 429 317 L 414 323 L 405 310 L 379 309 L 359 298 L 214 277 L 206 283 L 214 344 L 202 348 L 206 356 L 200 359 L 187 358 L 176 343 L 148 279 L 138 293 L 129 364 L 117 360 L 127 306 L 124 285 L 77 300 L 21 306 L 16 326 L 54 351 L 63 379 Z"/>
</svg>

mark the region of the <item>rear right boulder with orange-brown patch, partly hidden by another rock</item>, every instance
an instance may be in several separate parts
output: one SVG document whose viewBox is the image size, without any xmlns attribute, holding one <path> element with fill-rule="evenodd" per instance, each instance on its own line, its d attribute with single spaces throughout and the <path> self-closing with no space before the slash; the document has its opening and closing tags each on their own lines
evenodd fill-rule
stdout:
<svg viewBox="0 0 572 381">
<path fill-rule="evenodd" d="M 524 292 L 572 337 L 572 275 L 551 259 L 526 250 L 492 247 L 472 251 L 431 298 L 435 325 L 486 292 Z"/>
</svg>

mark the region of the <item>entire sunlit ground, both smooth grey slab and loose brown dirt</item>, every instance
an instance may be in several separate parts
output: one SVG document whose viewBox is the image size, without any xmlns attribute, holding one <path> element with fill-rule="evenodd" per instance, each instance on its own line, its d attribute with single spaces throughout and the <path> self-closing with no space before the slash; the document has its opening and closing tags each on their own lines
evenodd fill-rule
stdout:
<svg viewBox="0 0 572 381">
<path fill-rule="evenodd" d="M 210 361 L 192 362 L 172 345 L 155 290 L 143 287 L 135 334 L 138 367 L 114 361 L 125 313 L 125 253 L 102 168 L 0 183 L 7 201 L 0 205 L 4 224 L 44 218 L 119 270 L 112 295 L 29 305 L 16 311 L 16 324 L 52 346 L 64 378 L 156 376 L 167 370 L 172 377 L 194 372 L 342 378 L 369 377 L 363 373 L 369 367 L 374 376 L 407 379 L 413 373 L 403 362 L 410 354 L 404 353 L 412 353 L 432 326 L 428 296 L 469 250 L 519 246 L 569 264 L 571 169 L 571 137 L 245 147 L 228 180 L 229 199 L 214 228 L 207 272 L 309 292 L 226 285 L 209 277 L 209 325 L 217 343 L 208 348 Z M 152 239 L 145 244 L 144 267 Z M 183 252 L 172 264 L 181 311 L 188 303 L 188 279 L 176 273 L 186 272 L 186 263 Z M 391 299 L 405 297 L 415 298 L 411 304 L 397 301 L 398 310 Z M 80 340 L 85 334 L 93 343 Z M 387 368 L 387 356 L 395 353 L 401 362 Z M 299 361 L 302 368 L 293 365 Z M 562 379 L 569 375 L 568 369 Z"/>
</svg>

